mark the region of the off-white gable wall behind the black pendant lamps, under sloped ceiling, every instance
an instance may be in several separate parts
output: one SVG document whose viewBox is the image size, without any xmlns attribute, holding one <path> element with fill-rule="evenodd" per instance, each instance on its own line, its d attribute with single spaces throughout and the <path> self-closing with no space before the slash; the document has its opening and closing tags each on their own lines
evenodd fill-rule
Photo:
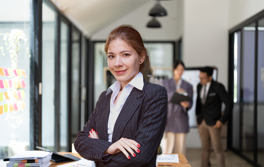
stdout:
<svg viewBox="0 0 264 167">
<path fill-rule="evenodd" d="M 182 36 L 183 32 L 183 26 L 181 24 L 183 22 L 183 0 L 160 2 L 168 13 L 167 16 L 156 17 L 161 23 L 161 28 L 147 28 L 147 23 L 152 19 L 152 17 L 148 15 L 149 11 L 156 3 L 156 1 L 149 1 L 93 34 L 91 36 L 91 40 L 106 40 L 111 30 L 121 24 L 133 25 L 147 41 L 178 40 Z"/>
</svg>

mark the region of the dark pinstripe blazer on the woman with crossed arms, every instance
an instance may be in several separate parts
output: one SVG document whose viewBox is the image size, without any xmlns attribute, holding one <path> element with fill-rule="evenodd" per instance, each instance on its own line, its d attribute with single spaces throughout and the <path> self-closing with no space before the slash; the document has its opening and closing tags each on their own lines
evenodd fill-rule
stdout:
<svg viewBox="0 0 264 167">
<path fill-rule="evenodd" d="M 89 121 L 78 132 L 74 142 L 75 150 L 84 158 L 95 161 L 96 166 L 155 166 L 158 146 L 165 126 L 167 111 L 167 91 L 163 86 L 146 82 L 143 90 L 135 87 L 131 91 L 116 120 L 112 143 L 108 142 L 107 123 L 110 113 L 112 92 L 100 95 Z M 99 139 L 92 139 L 89 131 L 94 129 Z M 121 137 L 135 140 L 140 144 L 140 153 L 131 159 L 120 152 L 107 155 L 104 151 Z"/>
</svg>

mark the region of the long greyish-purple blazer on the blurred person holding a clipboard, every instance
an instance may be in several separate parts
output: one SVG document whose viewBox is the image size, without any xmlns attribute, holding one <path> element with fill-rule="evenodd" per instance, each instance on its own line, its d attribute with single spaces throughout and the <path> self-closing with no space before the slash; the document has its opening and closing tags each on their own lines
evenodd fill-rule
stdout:
<svg viewBox="0 0 264 167">
<path fill-rule="evenodd" d="M 163 85 L 168 92 L 168 108 L 167 108 L 167 125 L 165 132 L 187 133 L 189 132 L 188 114 L 187 110 L 192 107 L 192 85 L 182 80 L 181 88 L 187 91 L 190 96 L 189 107 L 184 109 L 179 104 L 169 102 L 176 91 L 176 84 L 174 79 L 164 80 Z"/>
</svg>

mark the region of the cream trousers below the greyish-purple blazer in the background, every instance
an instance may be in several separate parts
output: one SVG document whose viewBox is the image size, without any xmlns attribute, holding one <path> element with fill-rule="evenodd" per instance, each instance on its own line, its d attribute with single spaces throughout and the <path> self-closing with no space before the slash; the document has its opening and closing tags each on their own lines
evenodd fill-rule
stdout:
<svg viewBox="0 0 264 167">
<path fill-rule="evenodd" d="M 165 132 L 167 138 L 166 154 L 184 154 L 186 153 L 186 136 L 187 133 Z"/>
</svg>

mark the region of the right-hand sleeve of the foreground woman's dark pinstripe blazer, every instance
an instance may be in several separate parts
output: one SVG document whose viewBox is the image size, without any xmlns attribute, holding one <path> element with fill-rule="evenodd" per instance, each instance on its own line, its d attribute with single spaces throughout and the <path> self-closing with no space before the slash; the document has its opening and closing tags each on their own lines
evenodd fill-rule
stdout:
<svg viewBox="0 0 264 167">
<path fill-rule="evenodd" d="M 152 85 L 152 84 L 151 84 Z M 152 85 L 144 92 L 142 119 L 136 132 L 135 141 L 140 144 L 140 153 L 131 159 L 120 152 L 107 155 L 106 162 L 99 162 L 101 166 L 142 166 L 149 163 L 157 155 L 167 118 L 167 91 L 163 86 Z"/>
</svg>

